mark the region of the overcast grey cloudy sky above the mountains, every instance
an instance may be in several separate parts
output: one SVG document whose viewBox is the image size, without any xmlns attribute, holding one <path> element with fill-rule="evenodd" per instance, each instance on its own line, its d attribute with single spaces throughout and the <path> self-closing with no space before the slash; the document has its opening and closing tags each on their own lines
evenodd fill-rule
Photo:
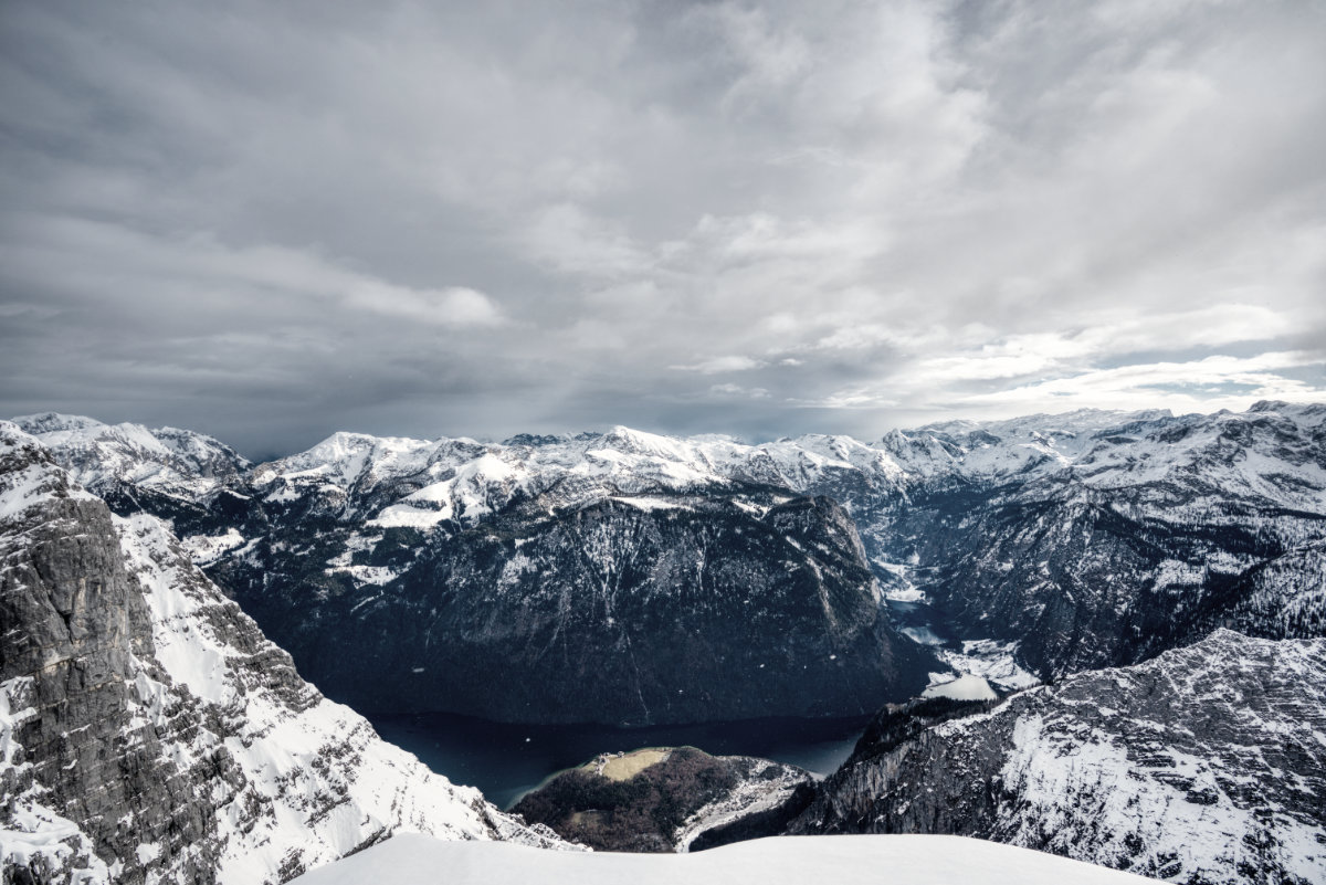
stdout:
<svg viewBox="0 0 1326 885">
<path fill-rule="evenodd" d="M 1326 401 L 1326 4 L 0 4 L 0 415 Z"/>
</svg>

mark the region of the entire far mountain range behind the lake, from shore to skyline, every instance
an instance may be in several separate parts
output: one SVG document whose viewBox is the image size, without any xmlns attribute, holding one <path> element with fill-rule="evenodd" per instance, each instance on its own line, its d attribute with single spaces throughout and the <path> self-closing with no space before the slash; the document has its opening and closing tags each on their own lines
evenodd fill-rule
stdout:
<svg viewBox="0 0 1326 885">
<path fill-rule="evenodd" d="M 1326 631 L 1321 405 L 874 444 L 338 433 L 257 466 L 180 431 L 24 420 L 113 506 L 171 518 L 302 672 L 366 709 L 849 714 L 945 669 L 932 651 L 1055 678 L 1220 625 Z M 880 595 L 922 603 L 911 635 L 941 645 L 899 636 Z"/>
</svg>

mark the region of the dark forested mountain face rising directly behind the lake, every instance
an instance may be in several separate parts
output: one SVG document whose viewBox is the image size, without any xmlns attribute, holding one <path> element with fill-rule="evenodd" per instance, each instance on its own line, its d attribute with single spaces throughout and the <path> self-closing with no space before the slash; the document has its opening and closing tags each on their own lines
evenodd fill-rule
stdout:
<svg viewBox="0 0 1326 885">
<path fill-rule="evenodd" d="M 272 546 L 217 575 L 304 673 L 367 710 L 827 717 L 907 697 L 937 666 L 892 632 L 855 531 L 826 498 L 758 515 L 724 498 L 603 499 L 415 533 L 399 558 L 383 546 L 362 567 L 399 574 L 369 596 L 286 580 Z"/>
</svg>

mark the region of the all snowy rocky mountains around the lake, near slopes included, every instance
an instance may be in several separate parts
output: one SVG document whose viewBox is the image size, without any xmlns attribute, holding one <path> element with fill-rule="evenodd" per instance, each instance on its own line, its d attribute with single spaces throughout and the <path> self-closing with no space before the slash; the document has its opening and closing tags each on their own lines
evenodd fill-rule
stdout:
<svg viewBox="0 0 1326 885">
<path fill-rule="evenodd" d="M 873 443 L 338 433 L 256 465 L 56 413 L 0 440 L 7 876 L 276 882 L 396 832 L 568 847 L 337 701 L 878 710 L 792 832 L 1326 874 L 1322 405 Z"/>
</svg>

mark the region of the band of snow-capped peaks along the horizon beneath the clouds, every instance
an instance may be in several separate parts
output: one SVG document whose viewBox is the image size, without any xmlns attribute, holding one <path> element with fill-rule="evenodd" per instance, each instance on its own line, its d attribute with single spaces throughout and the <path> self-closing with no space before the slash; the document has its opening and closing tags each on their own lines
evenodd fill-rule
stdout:
<svg viewBox="0 0 1326 885">
<path fill-rule="evenodd" d="M 170 428 L 110 427 L 54 413 L 17 421 L 94 490 L 115 477 L 199 498 L 219 480 L 243 473 L 269 501 L 318 494 L 333 511 L 381 526 L 473 522 L 513 499 L 554 490 L 560 503 L 573 505 L 733 482 L 823 493 L 851 481 L 876 492 L 906 492 L 944 478 L 991 482 L 1057 474 L 1099 489 L 1200 481 L 1224 493 L 1326 510 L 1326 405 L 1258 403 L 1244 413 L 1184 416 L 1086 409 L 948 421 L 890 431 L 876 443 L 806 435 L 749 445 L 625 427 L 503 444 L 342 432 L 256 468 L 211 437 Z"/>
</svg>

